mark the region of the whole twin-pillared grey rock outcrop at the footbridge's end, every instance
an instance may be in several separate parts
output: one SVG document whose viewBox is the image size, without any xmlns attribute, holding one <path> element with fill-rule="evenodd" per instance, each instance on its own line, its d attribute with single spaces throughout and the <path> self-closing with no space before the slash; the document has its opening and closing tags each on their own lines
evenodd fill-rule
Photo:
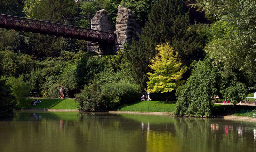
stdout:
<svg viewBox="0 0 256 152">
<path fill-rule="evenodd" d="M 118 14 L 116 18 L 116 31 L 111 27 L 108 21 L 107 11 L 97 11 L 91 21 L 91 29 L 116 33 L 116 44 L 104 43 L 99 44 L 88 42 L 88 51 L 95 51 L 101 54 L 116 54 L 117 51 L 123 50 L 123 44 L 128 43 L 132 45 L 132 38 L 138 40 L 137 32 L 141 33 L 139 23 L 135 20 L 132 10 L 124 8 L 119 5 Z"/>
</svg>

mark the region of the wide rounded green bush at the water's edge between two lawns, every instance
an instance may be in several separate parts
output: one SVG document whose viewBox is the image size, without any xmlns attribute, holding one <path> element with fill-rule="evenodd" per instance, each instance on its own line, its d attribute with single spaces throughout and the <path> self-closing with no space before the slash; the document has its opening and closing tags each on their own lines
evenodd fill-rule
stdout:
<svg viewBox="0 0 256 152">
<path fill-rule="evenodd" d="M 97 84 L 85 86 L 75 101 L 83 111 L 107 111 L 119 104 L 131 103 L 140 98 L 140 87 L 130 83 L 107 83 L 99 87 Z"/>
</svg>

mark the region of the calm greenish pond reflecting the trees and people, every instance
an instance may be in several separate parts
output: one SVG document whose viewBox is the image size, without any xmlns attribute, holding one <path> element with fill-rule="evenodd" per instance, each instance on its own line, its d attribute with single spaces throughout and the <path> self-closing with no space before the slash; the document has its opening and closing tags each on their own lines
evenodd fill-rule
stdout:
<svg viewBox="0 0 256 152">
<path fill-rule="evenodd" d="M 256 151 L 256 122 L 83 112 L 15 112 L 0 151 Z"/>
</svg>

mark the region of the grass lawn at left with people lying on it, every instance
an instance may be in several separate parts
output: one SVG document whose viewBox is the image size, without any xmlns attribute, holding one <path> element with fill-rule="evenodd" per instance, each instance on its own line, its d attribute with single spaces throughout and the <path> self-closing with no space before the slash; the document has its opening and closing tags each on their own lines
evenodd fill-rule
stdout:
<svg viewBox="0 0 256 152">
<path fill-rule="evenodd" d="M 42 102 L 37 105 L 28 105 L 33 98 L 28 98 L 23 101 L 20 106 L 21 108 L 47 108 L 47 109 L 77 109 L 74 99 L 55 99 L 55 98 L 40 98 Z"/>
</svg>

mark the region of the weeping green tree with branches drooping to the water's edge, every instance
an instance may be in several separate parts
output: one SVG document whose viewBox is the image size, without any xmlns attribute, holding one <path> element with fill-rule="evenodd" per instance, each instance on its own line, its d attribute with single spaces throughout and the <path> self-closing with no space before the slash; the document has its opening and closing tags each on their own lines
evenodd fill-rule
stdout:
<svg viewBox="0 0 256 152">
<path fill-rule="evenodd" d="M 214 95 L 229 100 L 232 105 L 246 97 L 247 88 L 238 80 L 235 71 L 223 76 L 223 64 L 213 64 L 210 56 L 204 61 L 193 62 L 192 72 L 186 83 L 177 89 L 178 97 L 174 115 L 210 117 Z"/>
</svg>

